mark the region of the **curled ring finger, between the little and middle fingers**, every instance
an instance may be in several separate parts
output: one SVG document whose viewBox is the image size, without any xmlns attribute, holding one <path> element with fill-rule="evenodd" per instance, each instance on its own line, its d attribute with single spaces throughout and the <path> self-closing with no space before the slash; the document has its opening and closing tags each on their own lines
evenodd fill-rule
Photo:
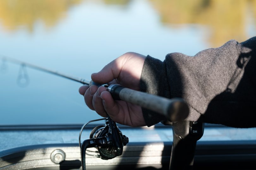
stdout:
<svg viewBox="0 0 256 170">
<path fill-rule="evenodd" d="M 101 93 L 107 91 L 107 88 L 105 87 L 99 87 L 97 92 L 93 96 L 92 100 L 92 105 L 94 107 L 94 110 L 101 116 L 107 117 L 107 113 L 104 109 L 104 106 L 102 104 L 102 99 L 101 99 Z"/>
</svg>

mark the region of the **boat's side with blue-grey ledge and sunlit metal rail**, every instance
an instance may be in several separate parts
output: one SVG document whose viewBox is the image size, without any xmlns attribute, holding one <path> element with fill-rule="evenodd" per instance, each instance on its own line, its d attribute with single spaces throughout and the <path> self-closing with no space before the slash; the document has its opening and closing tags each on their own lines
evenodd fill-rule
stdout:
<svg viewBox="0 0 256 170">
<path fill-rule="evenodd" d="M 81 139 L 88 139 L 92 129 L 98 125 L 85 127 Z M 1 126 L 0 170 L 82 169 L 77 138 L 81 126 Z M 109 160 L 86 155 L 87 169 L 169 168 L 174 139 L 171 126 L 118 126 L 129 137 L 123 154 Z M 205 124 L 204 135 L 195 147 L 193 169 L 220 169 L 224 166 L 227 169 L 254 169 L 255 132 L 256 128 L 238 129 Z M 89 148 L 87 152 L 99 154 L 96 148 Z M 184 165 L 182 162 L 186 154 L 183 152 L 178 155 L 183 156 L 178 160 L 180 167 Z"/>
</svg>

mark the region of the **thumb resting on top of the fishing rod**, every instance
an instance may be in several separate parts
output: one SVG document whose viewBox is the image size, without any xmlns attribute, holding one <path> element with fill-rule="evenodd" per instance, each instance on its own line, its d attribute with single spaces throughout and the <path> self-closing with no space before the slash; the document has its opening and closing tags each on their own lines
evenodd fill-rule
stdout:
<svg viewBox="0 0 256 170">
<path fill-rule="evenodd" d="M 98 83 L 106 83 L 118 78 L 122 70 L 122 63 L 125 63 L 125 61 L 122 60 L 123 59 L 119 57 L 108 63 L 101 71 L 91 75 L 92 80 Z"/>
</svg>

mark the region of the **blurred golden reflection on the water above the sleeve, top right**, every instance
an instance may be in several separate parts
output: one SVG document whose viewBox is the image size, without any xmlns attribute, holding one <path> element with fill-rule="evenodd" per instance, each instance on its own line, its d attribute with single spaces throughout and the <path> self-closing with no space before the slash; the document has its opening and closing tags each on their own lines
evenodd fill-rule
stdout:
<svg viewBox="0 0 256 170">
<path fill-rule="evenodd" d="M 166 24 L 200 24 L 211 30 L 209 42 L 220 46 L 230 39 L 249 38 L 248 14 L 256 18 L 256 1 L 252 0 L 150 0 Z"/>
</svg>

